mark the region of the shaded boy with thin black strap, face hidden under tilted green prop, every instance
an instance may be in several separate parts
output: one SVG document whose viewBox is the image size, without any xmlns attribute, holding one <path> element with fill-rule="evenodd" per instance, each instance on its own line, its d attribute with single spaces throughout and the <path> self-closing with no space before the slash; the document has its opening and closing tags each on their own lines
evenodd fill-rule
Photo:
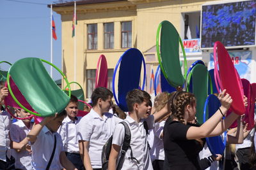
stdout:
<svg viewBox="0 0 256 170">
<path fill-rule="evenodd" d="M 45 170 L 49 165 L 49 170 L 76 169 L 67 159 L 62 146 L 60 134 L 56 131 L 60 127 L 62 120 L 67 116 L 67 111 L 56 113 L 55 117 L 45 117 L 40 124 L 31 129 L 27 138 L 31 142 L 32 166 L 35 170 Z M 55 144 L 54 144 L 55 143 Z M 55 145 L 55 150 L 54 150 Z M 54 150 L 54 152 L 52 152 Z"/>
</svg>

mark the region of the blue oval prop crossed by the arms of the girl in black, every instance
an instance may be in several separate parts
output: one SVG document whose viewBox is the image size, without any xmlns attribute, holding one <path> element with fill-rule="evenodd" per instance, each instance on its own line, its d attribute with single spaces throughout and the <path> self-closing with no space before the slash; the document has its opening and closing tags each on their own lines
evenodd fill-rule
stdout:
<svg viewBox="0 0 256 170">
<path fill-rule="evenodd" d="M 208 106 L 208 110 L 207 110 L 207 106 Z M 208 96 L 204 105 L 204 122 L 208 118 L 211 118 L 212 115 L 214 115 L 214 113 L 220 108 L 220 106 L 221 106 L 221 103 L 218 97 L 214 96 L 213 94 Z M 227 132 L 225 132 L 224 134 L 224 140 L 221 139 L 221 136 L 206 138 L 207 145 L 212 155 L 223 154 L 226 146 L 226 139 L 227 139 Z"/>
</svg>

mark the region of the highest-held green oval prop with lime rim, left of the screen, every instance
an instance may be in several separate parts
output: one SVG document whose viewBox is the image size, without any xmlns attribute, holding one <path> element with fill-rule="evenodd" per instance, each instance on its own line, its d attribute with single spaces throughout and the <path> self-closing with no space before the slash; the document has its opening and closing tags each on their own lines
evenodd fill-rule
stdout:
<svg viewBox="0 0 256 170">
<path fill-rule="evenodd" d="M 160 50 L 159 50 L 159 34 Z M 184 56 L 184 76 L 180 67 L 179 45 Z M 164 20 L 159 24 L 156 37 L 157 57 L 164 77 L 173 87 L 182 87 L 187 73 L 186 53 L 180 39 L 179 33 L 172 23 Z"/>
</svg>

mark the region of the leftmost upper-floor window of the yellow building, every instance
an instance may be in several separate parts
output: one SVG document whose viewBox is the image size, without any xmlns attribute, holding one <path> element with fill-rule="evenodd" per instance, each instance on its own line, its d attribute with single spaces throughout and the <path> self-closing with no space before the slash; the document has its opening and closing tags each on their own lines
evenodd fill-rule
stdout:
<svg viewBox="0 0 256 170">
<path fill-rule="evenodd" d="M 88 24 L 88 50 L 97 50 L 97 24 Z"/>
</svg>

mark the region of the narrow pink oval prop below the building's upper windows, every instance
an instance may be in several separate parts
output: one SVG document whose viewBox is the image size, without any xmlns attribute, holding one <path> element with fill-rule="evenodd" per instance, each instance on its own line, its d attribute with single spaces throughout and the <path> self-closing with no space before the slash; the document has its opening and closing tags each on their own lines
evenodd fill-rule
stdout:
<svg viewBox="0 0 256 170">
<path fill-rule="evenodd" d="M 108 63 L 103 54 L 100 55 L 97 63 L 95 88 L 97 87 L 108 87 Z"/>
</svg>

